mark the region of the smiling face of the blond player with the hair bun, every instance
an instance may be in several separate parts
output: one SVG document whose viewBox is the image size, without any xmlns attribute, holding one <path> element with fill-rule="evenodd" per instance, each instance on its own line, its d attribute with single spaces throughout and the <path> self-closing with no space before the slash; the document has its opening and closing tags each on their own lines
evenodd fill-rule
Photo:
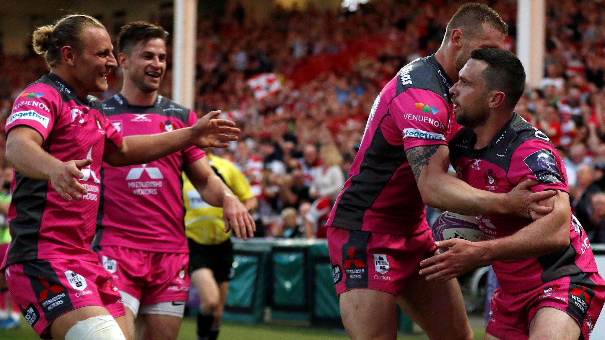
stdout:
<svg viewBox="0 0 605 340">
<path fill-rule="evenodd" d="M 107 91 L 107 74 L 117 67 L 109 34 L 105 28 L 87 27 L 80 44 L 73 49 L 74 78 L 87 93 Z"/>
</svg>

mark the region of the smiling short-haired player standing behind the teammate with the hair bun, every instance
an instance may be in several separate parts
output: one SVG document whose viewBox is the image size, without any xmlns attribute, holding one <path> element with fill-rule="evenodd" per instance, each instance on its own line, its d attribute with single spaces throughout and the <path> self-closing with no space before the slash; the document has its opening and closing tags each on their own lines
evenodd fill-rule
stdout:
<svg viewBox="0 0 605 340">
<path fill-rule="evenodd" d="M 162 27 L 140 21 L 119 33 L 122 90 L 103 108 L 122 136 L 178 131 L 197 121 L 194 111 L 157 93 L 166 71 L 167 35 Z M 252 237 L 252 217 L 197 146 L 143 165 L 103 163 L 93 247 L 122 294 L 129 339 L 137 316 L 142 339 L 176 339 L 180 329 L 190 285 L 183 171 L 204 201 L 223 208 L 223 229 L 232 227 L 244 240 Z"/>
</svg>

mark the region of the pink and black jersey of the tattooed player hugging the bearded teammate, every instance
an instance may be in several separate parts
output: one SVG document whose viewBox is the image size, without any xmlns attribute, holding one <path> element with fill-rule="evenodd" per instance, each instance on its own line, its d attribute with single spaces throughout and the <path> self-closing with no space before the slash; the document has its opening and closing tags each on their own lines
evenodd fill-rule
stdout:
<svg viewBox="0 0 605 340">
<path fill-rule="evenodd" d="M 414 60 L 387 83 L 327 226 L 399 235 L 428 229 L 405 151 L 447 145 L 455 134 L 452 85 L 434 55 Z"/>
</svg>

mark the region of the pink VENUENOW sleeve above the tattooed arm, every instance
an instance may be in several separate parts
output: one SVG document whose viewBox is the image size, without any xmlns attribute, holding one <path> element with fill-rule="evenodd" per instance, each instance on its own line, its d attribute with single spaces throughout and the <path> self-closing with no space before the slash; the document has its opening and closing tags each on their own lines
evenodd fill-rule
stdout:
<svg viewBox="0 0 605 340">
<path fill-rule="evenodd" d="M 410 88 L 394 97 L 389 113 L 401 129 L 404 148 L 447 145 L 450 114 L 445 99 L 429 90 Z"/>
</svg>

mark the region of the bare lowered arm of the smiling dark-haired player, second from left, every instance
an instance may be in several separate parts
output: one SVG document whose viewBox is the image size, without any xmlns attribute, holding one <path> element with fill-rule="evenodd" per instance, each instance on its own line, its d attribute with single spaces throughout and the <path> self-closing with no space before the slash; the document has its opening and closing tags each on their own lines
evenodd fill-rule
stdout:
<svg viewBox="0 0 605 340">
<path fill-rule="evenodd" d="M 257 228 L 252 216 L 231 189 L 215 174 L 207 156 L 187 165 L 185 173 L 194 188 L 200 192 L 204 202 L 223 208 L 225 232 L 233 228 L 238 238 L 247 240 L 254 237 Z"/>
</svg>

